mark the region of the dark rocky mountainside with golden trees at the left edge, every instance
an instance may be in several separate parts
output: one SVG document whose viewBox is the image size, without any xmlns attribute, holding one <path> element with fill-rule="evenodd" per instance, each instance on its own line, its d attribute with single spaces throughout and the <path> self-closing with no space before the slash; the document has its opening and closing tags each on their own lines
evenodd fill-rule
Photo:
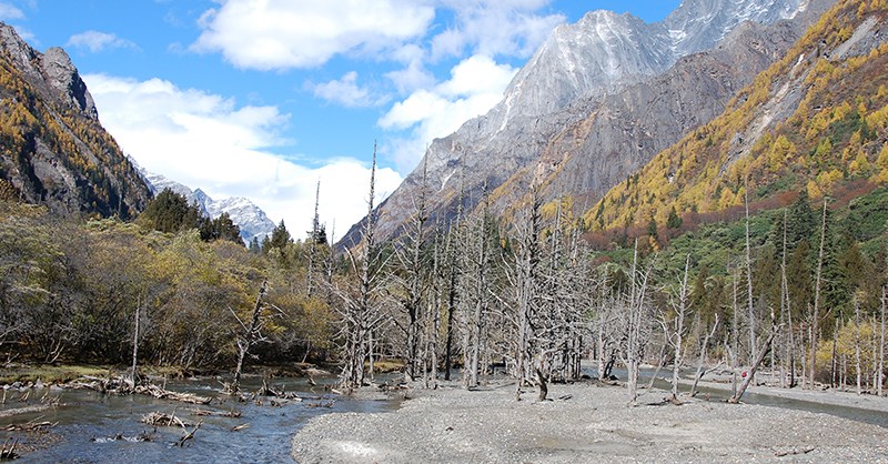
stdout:
<svg viewBox="0 0 888 464">
<path fill-rule="evenodd" d="M 71 59 L 0 23 L 0 191 L 62 215 L 127 219 L 151 196 L 99 122 Z"/>
</svg>

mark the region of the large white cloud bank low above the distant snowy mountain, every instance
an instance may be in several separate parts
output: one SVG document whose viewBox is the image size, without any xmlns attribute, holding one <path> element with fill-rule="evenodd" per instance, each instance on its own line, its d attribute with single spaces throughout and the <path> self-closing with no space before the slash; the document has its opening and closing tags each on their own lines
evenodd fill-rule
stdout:
<svg viewBox="0 0 888 464">
<path fill-rule="evenodd" d="M 83 77 L 102 124 L 143 168 L 200 188 L 214 199 L 246 196 L 295 238 L 311 229 L 315 183 L 321 181 L 322 220 L 342 235 L 366 213 L 370 170 L 351 159 L 320 168 L 274 154 L 289 122 L 275 107 L 239 107 L 232 99 L 169 81 L 104 74 Z M 377 192 L 391 193 L 401 176 L 377 171 Z M 382 196 L 380 196 L 380 200 Z"/>
</svg>

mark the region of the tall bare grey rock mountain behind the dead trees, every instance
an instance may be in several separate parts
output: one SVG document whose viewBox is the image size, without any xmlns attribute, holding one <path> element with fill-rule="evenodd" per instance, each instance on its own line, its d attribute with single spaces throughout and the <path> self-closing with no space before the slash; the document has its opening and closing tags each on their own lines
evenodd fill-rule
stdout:
<svg viewBox="0 0 888 464">
<path fill-rule="evenodd" d="M 533 183 L 592 200 L 657 151 L 720 113 L 834 0 L 686 0 L 663 22 L 587 13 L 557 28 L 483 117 L 435 140 L 423 162 L 377 209 L 391 238 L 413 212 L 423 163 L 431 222 L 492 192 L 502 213 Z M 770 30 L 740 24 L 789 26 Z M 783 28 L 783 29 L 780 29 Z M 693 54 L 720 48 L 703 56 Z M 720 50 L 720 51 L 719 51 Z M 460 193 L 462 192 L 462 194 Z M 360 224 L 342 240 L 360 241 Z"/>
</svg>

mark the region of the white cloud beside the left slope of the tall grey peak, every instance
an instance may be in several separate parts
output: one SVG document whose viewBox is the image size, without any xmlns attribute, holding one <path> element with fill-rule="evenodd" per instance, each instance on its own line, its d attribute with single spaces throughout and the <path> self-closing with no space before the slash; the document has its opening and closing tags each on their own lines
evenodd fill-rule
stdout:
<svg viewBox="0 0 888 464">
<path fill-rule="evenodd" d="M 386 153 L 402 172 L 412 170 L 433 139 L 453 133 L 496 105 L 516 72 L 484 56 L 463 60 L 451 70 L 450 80 L 413 92 L 379 120 L 386 130 L 411 130 L 410 139 L 391 141 Z"/>
</svg>

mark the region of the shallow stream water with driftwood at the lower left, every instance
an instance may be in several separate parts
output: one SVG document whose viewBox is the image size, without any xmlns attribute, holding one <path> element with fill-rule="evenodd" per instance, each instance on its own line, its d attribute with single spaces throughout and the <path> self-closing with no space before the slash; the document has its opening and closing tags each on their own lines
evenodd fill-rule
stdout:
<svg viewBox="0 0 888 464">
<path fill-rule="evenodd" d="M 332 382 L 333 379 L 325 380 Z M 37 413 L 17 414 L 0 417 L 0 440 L 18 437 L 20 446 L 34 447 L 36 451 L 21 453 L 17 462 L 65 462 L 65 463 L 286 463 L 290 456 L 290 440 L 309 418 L 331 412 L 383 412 L 397 407 L 393 401 L 354 401 L 324 393 L 321 386 L 312 387 L 301 379 L 275 380 L 275 389 L 300 392 L 311 400 L 303 402 L 279 401 L 271 405 L 273 397 L 262 397 L 263 405 L 254 402 L 238 402 L 218 395 L 219 382 L 215 379 L 169 383 L 168 390 L 189 392 L 202 396 L 219 396 L 221 402 L 210 405 L 155 400 L 147 395 L 115 396 L 84 390 L 42 390 L 38 395 L 58 397 L 62 404 Z M 244 391 L 255 391 L 261 381 L 248 379 Z M 18 397 L 22 393 L 8 393 L 2 408 L 23 407 Z M 14 396 L 14 399 L 13 399 Z M 33 394 L 32 394 L 33 396 Z M 29 404 L 39 404 L 31 401 Z M 326 407 L 325 405 L 331 405 Z M 212 410 L 218 412 L 240 412 L 240 417 L 195 416 L 191 410 Z M 203 421 L 193 440 L 184 446 L 176 445 L 183 436 L 181 426 L 153 427 L 143 424 L 142 416 L 152 412 L 174 413 L 178 417 L 196 423 Z M 28 421 L 58 422 L 44 433 L 7 432 L 9 424 Z M 240 431 L 233 427 L 248 424 Z M 189 427 L 189 430 L 193 430 Z M 138 441 L 148 435 L 151 441 Z"/>
</svg>

